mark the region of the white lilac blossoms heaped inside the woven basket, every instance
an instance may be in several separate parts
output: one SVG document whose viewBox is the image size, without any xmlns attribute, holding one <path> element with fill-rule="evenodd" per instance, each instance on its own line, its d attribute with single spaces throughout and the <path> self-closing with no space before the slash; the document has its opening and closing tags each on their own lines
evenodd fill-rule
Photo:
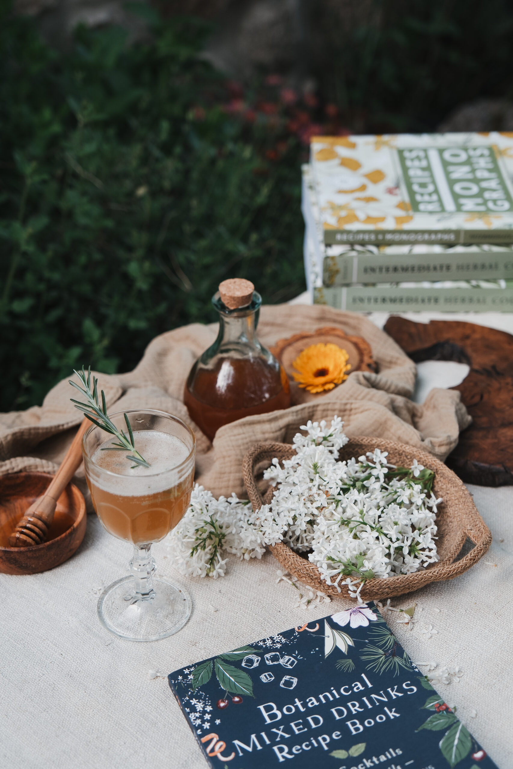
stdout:
<svg viewBox="0 0 513 769">
<path fill-rule="evenodd" d="M 358 461 L 337 461 L 348 441 L 337 417 L 329 428 L 322 421 L 301 429 L 307 435 L 295 436 L 295 457 L 283 468 L 274 460 L 264 473 L 277 489 L 252 522 L 266 544 L 284 541 L 295 551 L 310 551 L 322 579 L 338 590 L 345 581 L 355 595 L 368 579 L 410 574 L 438 560 L 441 499 L 431 491 L 432 471 L 416 460 L 411 468 L 398 468 L 379 449 Z"/>
</svg>

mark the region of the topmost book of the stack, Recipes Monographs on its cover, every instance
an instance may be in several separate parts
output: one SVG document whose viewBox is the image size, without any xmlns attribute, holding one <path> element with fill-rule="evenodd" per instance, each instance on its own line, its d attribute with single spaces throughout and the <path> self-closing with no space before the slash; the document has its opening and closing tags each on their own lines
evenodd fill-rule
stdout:
<svg viewBox="0 0 513 769">
<path fill-rule="evenodd" d="M 513 134 L 318 136 L 326 244 L 513 242 Z"/>
</svg>

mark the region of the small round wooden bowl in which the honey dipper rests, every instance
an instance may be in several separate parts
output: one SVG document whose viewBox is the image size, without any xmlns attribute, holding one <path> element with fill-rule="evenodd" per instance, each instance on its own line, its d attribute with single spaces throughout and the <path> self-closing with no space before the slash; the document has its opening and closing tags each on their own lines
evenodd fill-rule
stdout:
<svg viewBox="0 0 513 769">
<path fill-rule="evenodd" d="M 12 473 L 0 477 L 0 571 L 37 574 L 72 557 L 85 534 L 87 515 L 82 492 L 68 484 L 58 498 L 49 538 L 32 548 L 9 548 L 8 538 L 26 509 L 48 488 L 48 473 Z"/>
</svg>

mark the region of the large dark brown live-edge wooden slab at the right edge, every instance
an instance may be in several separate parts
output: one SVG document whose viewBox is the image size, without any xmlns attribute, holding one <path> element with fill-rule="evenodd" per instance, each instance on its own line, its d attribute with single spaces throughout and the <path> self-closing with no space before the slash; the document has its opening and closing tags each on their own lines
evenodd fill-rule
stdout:
<svg viewBox="0 0 513 769">
<path fill-rule="evenodd" d="M 463 321 L 415 323 L 397 315 L 388 318 L 385 331 L 416 363 L 470 366 L 451 389 L 461 392 L 473 421 L 446 462 L 468 483 L 513 485 L 513 336 Z"/>
</svg>

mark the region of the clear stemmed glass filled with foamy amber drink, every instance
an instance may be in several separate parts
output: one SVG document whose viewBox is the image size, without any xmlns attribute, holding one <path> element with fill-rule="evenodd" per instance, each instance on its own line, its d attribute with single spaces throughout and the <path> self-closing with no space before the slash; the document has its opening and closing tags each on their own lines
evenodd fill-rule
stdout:
<svg viewBox="0 0 513 769">
<path fill-rule="evenodd" d="M 158 641 L 180 630 L 191 614 L 183 588 L 155 579 L 153 542 L 175 528 L 191 499 L 195 435 L 185 422 L 164 411 L 141 409 L 109 414 L 120 431 L 128 416 L 135 447 L 149 468 L 132 467 L 126 451 L 105 451 L 112 436 L 89 428 L 82 441 L 85 477 L 103 527 L 131 542 L 131 576 L 113 582 L 98 600 L 98 615 L 112 633 L 130 641 Z"/>
</svg>

